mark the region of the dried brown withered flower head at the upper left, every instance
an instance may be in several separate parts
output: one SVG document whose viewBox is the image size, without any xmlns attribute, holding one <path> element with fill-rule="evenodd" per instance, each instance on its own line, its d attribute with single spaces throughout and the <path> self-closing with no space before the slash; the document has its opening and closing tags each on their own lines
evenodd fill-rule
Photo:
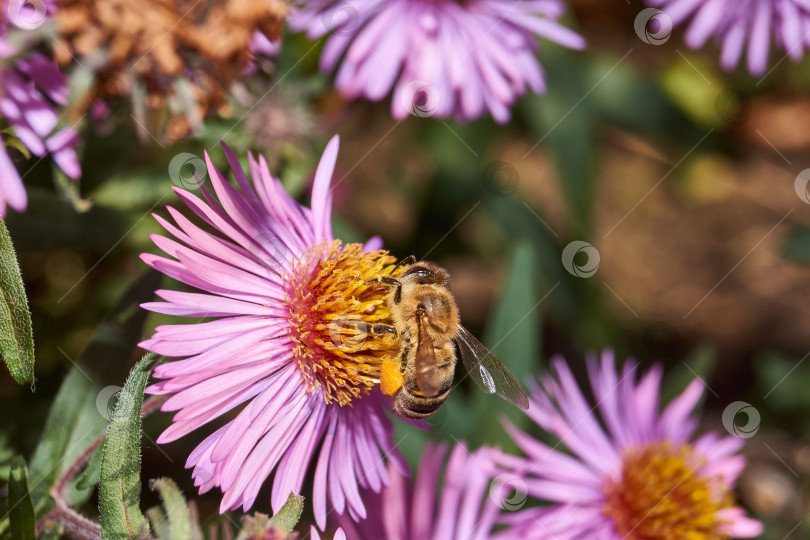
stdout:
<svg viewBox="0 0 810 540">
<path fill-rule="evenodd" d="M 223 112 L 254 34 L 279 39 L 287 12 L 284 0 L 58 0 L 58 8 L 57 60 L 81 58 L 98 77 L 93 97 L 132 96 L 136 117 L 168 140 Z"/>
</svg>

